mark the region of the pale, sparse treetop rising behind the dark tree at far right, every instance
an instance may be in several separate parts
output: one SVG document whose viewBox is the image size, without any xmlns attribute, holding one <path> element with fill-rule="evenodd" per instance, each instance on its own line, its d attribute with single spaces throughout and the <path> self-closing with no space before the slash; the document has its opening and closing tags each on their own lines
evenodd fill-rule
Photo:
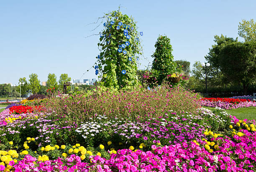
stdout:
<svg viewBox="0 0 256 172">
<path fill-rule="evenodd" d="M 256 22 L 253 19 L 239 22 L 238 35 L 244 38 L 245 41 L 256 41 Z"/>
</svg>

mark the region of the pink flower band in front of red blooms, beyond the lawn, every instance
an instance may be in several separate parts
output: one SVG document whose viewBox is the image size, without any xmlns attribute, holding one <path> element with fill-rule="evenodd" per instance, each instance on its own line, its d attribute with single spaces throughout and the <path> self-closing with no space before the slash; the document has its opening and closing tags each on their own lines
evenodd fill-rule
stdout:
<svg viewBox="0 0 256 172">
<path fill-rule="evenodd" d="M 200 104 L 201 106 L 220 107 L 222 109 L 237 109 L 237 108 L 250 107 L 250 106 L 256 107 L 256 102 L 253 102 L 253 101 L 244 101 L 238 104 L 233 104 L 233 103 L 224 102 L 224 101 L 209 101 L 209 100 L 201 99 Z"/>
</svg>

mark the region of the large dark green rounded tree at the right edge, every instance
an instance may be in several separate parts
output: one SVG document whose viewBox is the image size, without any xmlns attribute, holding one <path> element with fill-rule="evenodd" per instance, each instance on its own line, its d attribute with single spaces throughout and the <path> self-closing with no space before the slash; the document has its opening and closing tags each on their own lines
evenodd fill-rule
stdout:
<svg viewBox="0 0 256 172">
<path fill-rule="evenodd" d="M 233 81 L 243 84 L 243 93 L 246 95 L 248 85 L 256 81 L 256 42 L 223 45 L 218 63 L 220 71 Z"/>
</svg>

